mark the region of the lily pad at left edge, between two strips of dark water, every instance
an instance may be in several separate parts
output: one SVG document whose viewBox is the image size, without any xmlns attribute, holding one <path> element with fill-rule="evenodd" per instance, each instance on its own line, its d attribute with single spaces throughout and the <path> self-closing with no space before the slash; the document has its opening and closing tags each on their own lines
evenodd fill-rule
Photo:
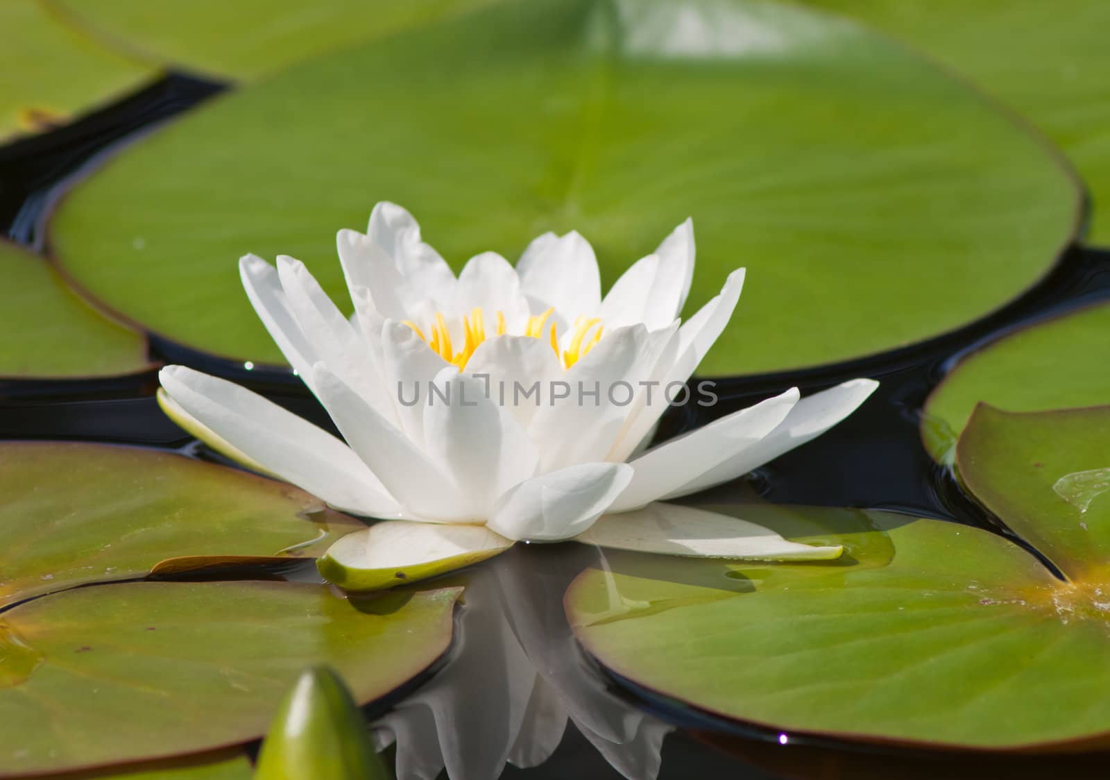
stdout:
<svg viewBox="0 0 1110 780">
<path fill-rule="evenodd" d="M 0 239 L 0 308 L 9 323 L 0 333 L 0 378 L 105 377 L 151 368 L 147 339 L 89 306 L 42 258 Z"/>
</svg>

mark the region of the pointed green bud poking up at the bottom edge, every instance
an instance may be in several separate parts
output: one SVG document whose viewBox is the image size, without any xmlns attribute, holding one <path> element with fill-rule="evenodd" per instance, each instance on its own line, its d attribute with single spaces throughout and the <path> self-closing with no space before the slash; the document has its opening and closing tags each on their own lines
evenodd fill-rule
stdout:
<svg viewBox="0 0 1110 780">
<path fill-rule="evenodd" d="M 285 696 L 259 753 L 255 780 L 386 780 L 366 721 L 342 678 L 309 669 Z"/>
</svg>

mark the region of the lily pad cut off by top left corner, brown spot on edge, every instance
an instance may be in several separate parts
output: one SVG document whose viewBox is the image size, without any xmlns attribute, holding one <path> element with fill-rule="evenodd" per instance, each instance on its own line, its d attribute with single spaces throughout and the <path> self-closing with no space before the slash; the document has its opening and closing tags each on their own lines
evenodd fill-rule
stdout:
<svg viewBox="0 0 1110 780">
<path fill-rule="evenodd" d="M 49 6 L 0 3 L 0 141 L 64 123 L 155 76 L 60 23 Z"/>
</svg>

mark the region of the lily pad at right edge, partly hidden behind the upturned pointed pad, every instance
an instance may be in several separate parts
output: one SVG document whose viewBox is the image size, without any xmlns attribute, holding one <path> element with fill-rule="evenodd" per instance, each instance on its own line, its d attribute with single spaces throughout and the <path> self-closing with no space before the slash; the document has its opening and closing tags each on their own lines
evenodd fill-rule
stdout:
<svg viewBox="0 0 1110 780">
<path fill-rule="evenodd" d="M 1099 303 L 1017 330 L 963 358 L 925 403 L 926 449 L 950 462 L 957 437 L 979 402 L 1007 411 L 1107 403 L 1108 333 L 1110 303 Z"/>
</svg>

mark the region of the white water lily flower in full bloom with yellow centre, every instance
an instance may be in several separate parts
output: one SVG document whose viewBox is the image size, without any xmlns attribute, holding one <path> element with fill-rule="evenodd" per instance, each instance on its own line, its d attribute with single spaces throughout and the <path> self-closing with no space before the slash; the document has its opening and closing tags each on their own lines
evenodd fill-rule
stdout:
<svg viewBox="0 0 1110 780">
<path fill-rule="evenodd" d="M 668 406 L 665 389 L 689 379 L 744 280 L 743 269 L 734 271 L 720 294 L 678 320 L 694 270 L 689 220 L 604 298 L 594 252 L 575 232 L 541 236 L 516 268 L 478 254 L 457 278 L 392 203 L 374 208 L 366 234 L 344 230 L 337 243 L 353 320 L 292 258 L 279 257 L 275 269 L 246 256 L 240 271 L 263 323 L 345 443 L 185 367 L 162 370 L 159 397 L 213 448 L 336 509 L 483 527 L 408 528 L 404 549 L 389 549 L 413 572 L 487 557 L 515 540 L 572 539 L 603 513 L 733 480 L 836 424 L 877 386 L 857 379 L 805 399 L 793 388 L 646 449 Z M 514 392 L 533 383 L 537 396 Z M 680 526 L 637 522 L 602 536 L 683 544 Z M 757 557 L 834 554 L 776 539 L 763 539 Z M 712 546 L 696 547 L 687 554 L 713 554 Z M 735 548 L 726 554 L 738 554 Z"/>
</svg>

